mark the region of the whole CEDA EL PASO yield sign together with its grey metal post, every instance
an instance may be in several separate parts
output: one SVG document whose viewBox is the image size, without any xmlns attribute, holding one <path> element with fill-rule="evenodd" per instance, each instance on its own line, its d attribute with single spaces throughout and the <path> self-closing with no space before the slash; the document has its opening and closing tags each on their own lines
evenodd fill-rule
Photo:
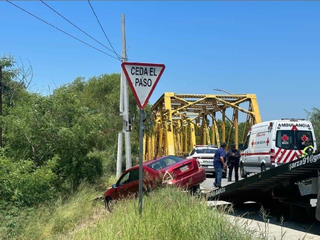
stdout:
<svg viewBox="0 0 320 240">
<path fill-rule="evenodd" d="M 134 98 L 140 108 L 139 129 L 139 214 L 142 213 L 142 154 L 143 154 L 143 109 L 156 87 L 163 71 L 164 64 L 123 62 L 121 67 L 131 87 Z"/>
</svg>

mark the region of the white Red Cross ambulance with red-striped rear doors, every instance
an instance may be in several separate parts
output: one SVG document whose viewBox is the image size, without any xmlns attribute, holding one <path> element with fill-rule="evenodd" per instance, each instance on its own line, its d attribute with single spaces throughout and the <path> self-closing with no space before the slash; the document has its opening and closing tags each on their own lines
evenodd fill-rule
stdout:
<svg viewBox="0 0 320 240">
<path fill-rule="evenodd" d="M 280 119 L 253 125 L 241 150 L 240 175 L 259 173 L 301 157 L 305 140 L 311 139 L 316 151 L 316 138 L 310 121 Z"/>
</svg>

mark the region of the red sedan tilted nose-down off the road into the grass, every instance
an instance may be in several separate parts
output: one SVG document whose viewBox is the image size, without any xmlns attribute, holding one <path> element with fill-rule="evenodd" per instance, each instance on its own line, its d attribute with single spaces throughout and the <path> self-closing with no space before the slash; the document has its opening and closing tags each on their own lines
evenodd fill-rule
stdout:
<svg viewBox="0 0 320 240">
<path fill-rule="evenodd" d="M 160 179 L 162 184 L 176 185 L 182 188 L 198 189 L 205 180 L 204 168 L 195 159 L 177 156 L 163 156 L 143 163 L 143 185 L 154 188 L 154 180 Z M 146 177 L 148 176 L 148 177 Z M 106 207 L 111 211 L 113 200 L 128 195 L 137 195 L 139 187 L 139 165 L 122 173 L 116 184 L 104 193 Z M 147 187 L 147 188 L 148 188 Z"/>
</svg>

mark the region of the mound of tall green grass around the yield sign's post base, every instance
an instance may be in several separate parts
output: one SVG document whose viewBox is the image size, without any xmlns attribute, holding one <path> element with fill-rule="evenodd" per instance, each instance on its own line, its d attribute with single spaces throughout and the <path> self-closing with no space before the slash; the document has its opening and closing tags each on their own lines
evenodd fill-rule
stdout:
<svg viewBox="0 0 320 240">
<path fill-rule="evenodd" d="M 245 229 L 231 224 L 217 208 L 190 197 L 176 188 L 163 188 L 144 197 L 142 216 L 138 200 L 127 199 L 115 205 L 92 224 L 79 228 L 63 239 L 187 240 L 252 239 Z"/>
</svg>

